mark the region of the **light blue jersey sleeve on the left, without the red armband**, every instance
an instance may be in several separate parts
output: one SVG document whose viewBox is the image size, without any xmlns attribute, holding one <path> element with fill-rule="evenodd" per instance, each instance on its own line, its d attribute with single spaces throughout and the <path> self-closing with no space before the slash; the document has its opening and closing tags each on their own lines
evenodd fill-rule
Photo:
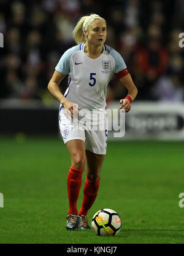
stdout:
<svg viewBox="0 0 184 256">
<path fill-rule="evenodd" d="M 55 70 L 57 70 L 59 73 L 62 74 L 69 74 L 70 73 L 70 59 L 72 57 L 72 54 L 74 54 L 74 52 L 76 52 L 77 50 L 79 50 L 79 46 L 74 46 L 68 50 L 66 50 L 66 52 L 64 52 L 64 54 L 61 56 L 58 64 L 55 67 Z"/>
</svg>

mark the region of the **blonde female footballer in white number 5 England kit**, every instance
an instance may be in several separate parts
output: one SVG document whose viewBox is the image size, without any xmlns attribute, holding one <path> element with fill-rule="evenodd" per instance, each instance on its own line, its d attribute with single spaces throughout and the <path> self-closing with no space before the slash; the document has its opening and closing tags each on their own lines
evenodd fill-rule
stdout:
<svg viewBox="0 0 184 256">
<path fill-rule="evenodd" d="M 74 108 L 82 111 L 101 110 L 106 117 L 107 84 L 115 73 L 128 95 L 120 100 L 120 109 L 131 109 L 137 88 L 126 69 L 121 55 L 104 44 L 107 26 L 104 18 L 91 14 L 80 18 L 73 31 L 77 46 L 66 50 L 56 65 L 48 90 L 61 103 L 59 107 L 59 129 L 71 156 L 71 167 L 67 176 L 69 211 L 67 230 L 87 229 L 87 213 L 94 203 L 99 189 L 100 172 L 106 153 L 107 130 L 74 129 Z M 61 94 L 58 84 L 69 75 L 68 88 Z M 69 118 L 70 115 L 70 118 Z M 83 201 L 77 210 L 82 174 L 86 162 L 86 181 Z"/>
</svg>

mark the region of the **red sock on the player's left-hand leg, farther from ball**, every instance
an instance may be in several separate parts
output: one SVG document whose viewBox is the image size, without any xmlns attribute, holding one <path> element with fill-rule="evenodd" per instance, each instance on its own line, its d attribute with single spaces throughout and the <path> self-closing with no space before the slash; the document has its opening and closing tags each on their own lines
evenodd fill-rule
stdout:
<svg viewBox="0 0 184 256">
<path fill-rule="evenodd" d="M 77 199 L 79 198 L 80 186 L 82 183 L 83 170 L 75 169 L 71 166 L 67 175 L 67 194 L 69 199 L 68 214 L 77 215 Z"/>
</svg>

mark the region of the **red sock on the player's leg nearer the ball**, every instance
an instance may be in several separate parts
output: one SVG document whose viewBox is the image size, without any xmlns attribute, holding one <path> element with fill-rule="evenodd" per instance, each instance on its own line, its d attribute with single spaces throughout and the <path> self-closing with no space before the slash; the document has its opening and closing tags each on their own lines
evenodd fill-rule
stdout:
<svg viewBox="0 0 184 256">
<path fill-rule="evenodd" d="M 100 180 L 100 178 L 99 178 Z M 98 188 L 99 188 L 99 180 L 98 182 L 91 182 L 86 177 L 86 183 L 83 188 L 83 201 L 82 207 L 79 210 L 78 215 L 87 215 L 88 210 L 93 206 L 93 202 L 96 199 Z"/>
</svg>

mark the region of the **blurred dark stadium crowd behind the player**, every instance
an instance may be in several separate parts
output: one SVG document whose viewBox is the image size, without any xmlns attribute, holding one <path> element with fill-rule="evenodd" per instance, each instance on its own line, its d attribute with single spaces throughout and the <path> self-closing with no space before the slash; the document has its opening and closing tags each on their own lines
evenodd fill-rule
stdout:
<svg viewBox="0 0 184 256">
<path fill-rule="evenodd" d="M 184 100 L 184 48 L 178 46 L 183 0 L 1 0 L 0 98 L 50 97 L 47 84 L 55 66 L 75 45 L 72 30 L 82 15 L 92 13 L 107 21 L 105 44 L 124 58 L 139 90 L 137 100 Z M 64 92 L 67 78 L 61 85 Z M 107 101 L 125 95 L 114 76 Z"/>
</svg>

